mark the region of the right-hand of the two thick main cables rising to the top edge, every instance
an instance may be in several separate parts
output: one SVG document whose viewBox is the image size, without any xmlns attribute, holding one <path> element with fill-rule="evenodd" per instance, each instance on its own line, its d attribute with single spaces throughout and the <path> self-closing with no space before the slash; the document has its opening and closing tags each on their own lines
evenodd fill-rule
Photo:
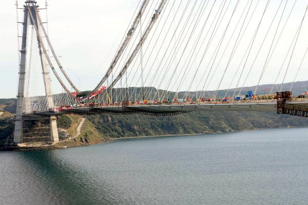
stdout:
<svg viewBox="0 0 308 205">
<path fill-rule="evenodd" d="M 159 17 L 161 11 L 163 10 L 165 4 L 166 4 L 167 0 L 162 0 L 158 9 L 156 10 L 155 14 L 153 14 L 152 19 L 147 27 L 147 29 L 144 31 L 139 43 L 137 44 L 136 48 L 133 50 L 132 54 L 130 55 L 129 59 L 127 60 L 127 62 L 125 63 L 125 65 L 123 66 L 122 70 L 120 71 L 119 75 L 117 76 L 117 78 L 115 78 L 113 80 L 113 82 L 111 83 L 111 85 L 107 88 L 108 90 L 112 89 L 112 87 L 115 85 L 115 83 L 117 83 L 121 77 L 124 75 L 125 71 L 127 70 L 127 68 L 129 67 L 129 65 L 131 64 L 131 62 L 133 61 L 133 59 L 136 57 L 138 51 L 141 48 L 141 45 L 143 45 L 143 43 L 145 42 L 148 34 L 150 33 L 152 27 L 154 26 L 155 22 L 157 21 L 157 18 Z"/>
</svg>

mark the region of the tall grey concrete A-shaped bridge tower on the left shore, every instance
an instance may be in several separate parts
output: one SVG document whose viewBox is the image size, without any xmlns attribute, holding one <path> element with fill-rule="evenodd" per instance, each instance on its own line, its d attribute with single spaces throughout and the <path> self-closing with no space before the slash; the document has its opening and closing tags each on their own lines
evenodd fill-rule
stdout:
<svg viewBox="0 0 308 205">
<path fill-rule="evenodd" d="M 17 107 L 16 107 L 16 117 L 15 117 L 15 129 L 14 129 L 14 143 L 23 142 L 23 126 L 25 124 L 23 121 L 23 112 L 25 109 L 29 109 L 28 100 L 25 99 L 25 81 L 27 79 L 26 65 L 27 65 L 27 33 L 28 33 L 28 24 L 35 27 L 37 45 L 38 45 L 38 54 L 40 55 L 40 61 L 42 66 L 42 73 L 45 86 L 45 94 L 47 106 L 50 109 L 54 108 L 52 91 L 51 91 L 51 80 L 49 74 L 49 65 L 45 52 L 42 50 L 42 29 L 38 26 L 37 13 L 35 9 L 38 6 L 35 1 L 26 1 L 24 5 L 24 21 L 23 21 L 23 32 L 22 32 L 22 46 L 21 46 L 21 58 L 20 58 L 20 68 L 19 68 L 19 79 L 18 79 L 18 92 L 17 92 Z M 33 118 L 33 120 L 37 118 Z M 38 118 L 38 120 L 40 120 Z M 29 120 L 28 120 L 29 121 Z M 27 127 L 28 128 L 28 127 Z M 56 117 L 50 116 L 50 141 L 59 141 L 59 134 L 57 132 Z"/>
</svg>

